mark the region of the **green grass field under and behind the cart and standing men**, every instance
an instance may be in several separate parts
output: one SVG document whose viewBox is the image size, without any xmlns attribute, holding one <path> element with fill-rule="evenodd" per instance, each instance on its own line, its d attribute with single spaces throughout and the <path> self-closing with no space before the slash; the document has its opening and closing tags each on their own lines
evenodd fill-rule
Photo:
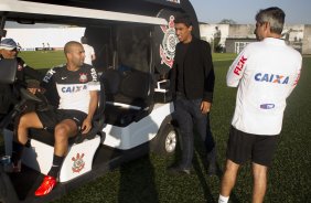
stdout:
<svg viewBox="0 0 311 203">
<path fill-rule="evenodd" d="M 47 64 L 46 56 L 55 54 L 55 63 Z M 49 67 L 64 62 L 62 53 L 22 53 L 21 56 L 34 67 Z M 215 99 L 211 113 L 211 125 L 216 140 L 219 169 L 225 161 L 226 141 L 235 106 L 235 88 L 225 84 L 226 71 L 234 54 L 215 54 Z M 303 57 L 301 79 L 288 99 L 283 129 L 279 147 L 269 170 L 268 191 L 265 202 L 305 203 L 311 194 L 311 57 Z M 221 175 L 208 177 L 202 164 L 204 148 L 195 141 L 194 170 L 191 175 L 171 177 L 165 168 L 175 157 L 161 158 L 148 154 L 125 163 L 101 178 L 72 191 L 55 201 L 57 203 L 106 202 L 106 203 L 206 203 L 217 202 Z M 179 153 L 176 153 L 179 154 Z M 230 201 L 251 200 L 250 164 L 242 168 Z"/>
</svg>

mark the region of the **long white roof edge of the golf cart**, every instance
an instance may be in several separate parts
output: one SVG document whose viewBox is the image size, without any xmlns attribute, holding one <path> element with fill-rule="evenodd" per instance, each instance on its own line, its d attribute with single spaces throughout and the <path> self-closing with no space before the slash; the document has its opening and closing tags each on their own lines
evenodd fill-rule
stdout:
<svg viewBox="0 0 311 203">
<path fill-rule="evenodd" d="M 39 22 L 98 25 L 103 20 L 114 23 L 168 24 L 165 19 L 156 17 L 18 0 L 1 0 L 0 14 L 2 18 L 6 17 L 7 20 L 29 24 Z"/>
</svg>

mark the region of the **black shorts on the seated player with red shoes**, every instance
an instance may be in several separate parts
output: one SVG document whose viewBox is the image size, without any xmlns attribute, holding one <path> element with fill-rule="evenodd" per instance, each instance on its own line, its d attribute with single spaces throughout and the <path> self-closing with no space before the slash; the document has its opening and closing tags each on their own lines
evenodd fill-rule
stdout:
<svg viewBox="0 0 311 203">
<path fill-rule="evenodd" d="M 36 111 L 36 114 L 44 129 L 54 129 L 62 120 L 72 119 L 76 122 L 79 130 L 84 119 L 87 117 L 85 113 L 73 109 L 51 109 Z"/>
</svg>

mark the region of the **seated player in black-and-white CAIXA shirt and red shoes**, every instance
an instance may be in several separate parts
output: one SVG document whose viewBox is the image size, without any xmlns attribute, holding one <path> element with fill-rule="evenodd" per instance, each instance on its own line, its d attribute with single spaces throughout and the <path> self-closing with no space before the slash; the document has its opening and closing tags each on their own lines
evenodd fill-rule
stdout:
<svg viewBox="0 0 311 203">
<path fill-rule="evenodd" d="M 13 143 L 12 164 L 13 172 L 19 172 L 29 129 L 54 129 L 53 164 L 35 191 L 36 196 L 49 194 L 56 185 L 56 179 L 68 149 L 68 138 L 90 130 L 92 119 L 98 105 L 100 84 L 95 68 L 84 64 L 85 52 L 82 44 L 71 41 L 65 44 L 64 53 L 67 63 L 51 68 L 41 83 L 43 88 L 51 84 L 56 86 L 60 96 L 58 108 L 24 114 L 15 130 L 19 143 Z"/>
</svg>

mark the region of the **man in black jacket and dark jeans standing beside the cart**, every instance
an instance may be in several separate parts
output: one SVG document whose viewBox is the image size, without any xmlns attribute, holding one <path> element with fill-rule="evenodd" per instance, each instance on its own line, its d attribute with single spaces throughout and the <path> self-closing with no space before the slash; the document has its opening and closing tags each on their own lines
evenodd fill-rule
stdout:
<svg viewBox="0 0 311 203">
<path fill-rule="evenodd" d="M 192 22 L 187 15 L 176 17 L 174 23 L 180 43 L 176 45 L 170 81 L 174 116 L 182 137 L 182 160 L 170 171 L 190 174 L 194 148 L 193 126 L 196 125 L 206 147 L 208 173 L 215 174 L 216 150 L 208 118 L 215 82 L 211 46 L 192 35 Z"/>
</svg>

